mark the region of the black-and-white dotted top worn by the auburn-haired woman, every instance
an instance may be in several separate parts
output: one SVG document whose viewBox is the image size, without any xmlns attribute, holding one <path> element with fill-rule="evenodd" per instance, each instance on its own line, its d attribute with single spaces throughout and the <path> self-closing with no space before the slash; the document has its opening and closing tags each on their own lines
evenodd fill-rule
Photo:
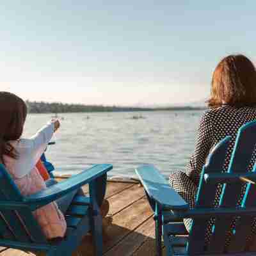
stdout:
<svg viewBox="0 0 256 256">
<path fill-rule="evenodd" d="M 256 120 L 256 108 L 252 107 L 234 108 L 223 105 L 220 108 L 209 109 L 203 113 L 196 138 L 195 152 L 185 169 L 186 174 L 196 186 L 198 186 L 202 167 L 211 149 L 226 136 L 231 136 L 223 166 L 223 170 L 227 171 L 238 129 L 243 124 L 253 120 Z M 252 170 L 255 159 L 254 152 L 249 170 Z"/>
</svg>

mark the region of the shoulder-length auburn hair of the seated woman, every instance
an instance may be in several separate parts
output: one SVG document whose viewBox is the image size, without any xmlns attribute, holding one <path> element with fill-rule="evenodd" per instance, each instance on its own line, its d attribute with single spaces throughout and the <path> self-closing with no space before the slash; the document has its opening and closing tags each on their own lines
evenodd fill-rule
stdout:
<svg viewBox="0 0 256 256">
<path fill-rule="evenodd" d="M 223 104 L 241 108 L 256 104 L 256 69 L 242 54 L 229 55 L 218 63 L 212 76 L 210 108 Z"/>
</svg>

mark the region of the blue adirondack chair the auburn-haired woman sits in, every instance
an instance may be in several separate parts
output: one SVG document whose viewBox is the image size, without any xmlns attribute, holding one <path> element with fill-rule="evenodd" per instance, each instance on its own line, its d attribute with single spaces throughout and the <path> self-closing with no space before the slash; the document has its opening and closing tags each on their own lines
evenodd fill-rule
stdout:
<svg viewBox="0 0 256 256">
<path fill-rule="evenodd" d="M 246 241 L 256 217 L 256 165 L 252 172 L 247 172 L 256 145 L 256 122 L 239 129 L 228 172 L 223 172 L 229 143 L 230 137 L 220 141 L 204 165 L 194 209 L 189 209 L 154 166 L 136 169 L 154 211 L 157 255 L 162 253 L 162 236 L 167 255 L 256 255 L 256 236 Z M 244 182 L 246 194 L 238 207 L 237 199 Z M 212 207 L 217 184 L 224 184 L 221 200 L 218 207 Z M 216 221 L 211 241 L 205 246 L 205 230 L 212 217 Z M 239 217 L 236 228 L 232 230 L 230 244 L 225 246 L 225 237 L 235 217 Z M 184 218 L 193 219 L 189 233 L 182 221 Z"/>
</svg>

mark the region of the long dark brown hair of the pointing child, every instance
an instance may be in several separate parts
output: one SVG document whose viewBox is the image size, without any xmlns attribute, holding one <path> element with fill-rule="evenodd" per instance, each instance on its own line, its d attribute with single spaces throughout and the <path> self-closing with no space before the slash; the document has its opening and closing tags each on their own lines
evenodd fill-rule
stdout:
<svg viewBox="0 0 256 256">
<path fill-rule="evenodd" d="M 24 100 L 10 92 L 0 92 L 0 160 L 3 155 L 17 159 L 18 154 L 9 141 L 19 140 L 27 116 Z"/>
</svg>

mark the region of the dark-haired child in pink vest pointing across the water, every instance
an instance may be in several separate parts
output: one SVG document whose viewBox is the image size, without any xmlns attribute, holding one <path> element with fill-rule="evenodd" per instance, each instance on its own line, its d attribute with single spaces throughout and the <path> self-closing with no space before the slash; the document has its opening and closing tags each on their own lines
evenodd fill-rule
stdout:
<svg viewBox="0 0 256 256">
<path fill-rule="evenodd" d="M 44 179 L 35 165 L 44 153 L 53 133 L 60 127 L 58 120 L 52 120 L 33 137 L 21 139 L 26 115 L 27 107 L 22 99 L 13 93 L 0 92 L 0 161 L 6 166 L 24 196 L 46 188 Z M 65 235 L 67 224 L 55 202 L 33 213 L 48 239 Z"/>
</svg>

